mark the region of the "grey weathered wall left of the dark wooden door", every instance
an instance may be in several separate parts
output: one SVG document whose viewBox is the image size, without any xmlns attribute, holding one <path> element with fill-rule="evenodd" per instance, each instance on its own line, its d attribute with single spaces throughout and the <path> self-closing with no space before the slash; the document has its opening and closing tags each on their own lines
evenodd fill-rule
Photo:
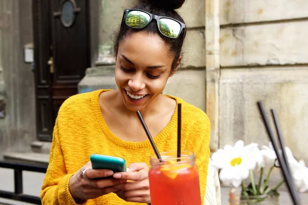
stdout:
<svg viewBox="0 0 308 205">
<path fill-rule="evenodd" d="M 31 9 L 31 0 L 0 1 L 0 100 L 5 104 L 0 155 L 10 149 L 27 151 L 35 139 L 34 76 L 23 53 L 33 40 Z"/>
</svg>

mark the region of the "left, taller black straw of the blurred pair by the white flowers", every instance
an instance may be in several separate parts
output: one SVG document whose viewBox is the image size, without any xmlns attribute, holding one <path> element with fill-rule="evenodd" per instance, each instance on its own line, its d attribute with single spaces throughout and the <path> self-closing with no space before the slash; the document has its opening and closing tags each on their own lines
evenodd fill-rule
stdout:
<svg viewBox="0 0 308 205">
<path fill-rule="evenodd" d="M 274 134 L 272 132 L 271 125 L 269 124 L 269 120 L 267 118 L 263 103 L 261 101 L 258 101 L 257 104 L 258 104 L 258 108 L 259 108 L 260 114 L 261 114 L 262 119 L 263 119 L 264 126 L 266 128 L 268 137 L 271 140 L 273 147 L 274 147 L 274 150 L 275 150 L 275 153 L 277 155 L 283 177 L 286 181 L 287 189 L 288 189 L 289 193 L 291 194 L 291 197 L 292 197 L 292 200 L 293 200 L 293 204 L 300 205 L 300 199 L 298 197 L 298 192 L 292 186 L 292 183 L 294 183 L 292 176 L 288 173 L 286 165 L 285 165 L 285 161 L 279 153 L 279 148 L 278 148 L 276 139 L 274 138 Z"/>
</svg>

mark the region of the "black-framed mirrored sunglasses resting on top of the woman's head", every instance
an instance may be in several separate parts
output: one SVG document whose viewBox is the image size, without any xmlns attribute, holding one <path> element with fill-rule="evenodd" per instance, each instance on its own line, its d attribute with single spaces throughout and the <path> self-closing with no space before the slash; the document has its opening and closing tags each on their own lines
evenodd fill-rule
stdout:
<svg viewBox="0 0 308 205">
<path fill-rule="evenodd" d="M 177 19 L 166 16 L 157 16 L 139 9 L 125 9 L 123 19 L 125 24 L 134 29 L 146 27 L 153 19 L 156 19 L 157 27 L 161 34 L 169 38 L 180 36 L 185 24 Z"/>
</svg>

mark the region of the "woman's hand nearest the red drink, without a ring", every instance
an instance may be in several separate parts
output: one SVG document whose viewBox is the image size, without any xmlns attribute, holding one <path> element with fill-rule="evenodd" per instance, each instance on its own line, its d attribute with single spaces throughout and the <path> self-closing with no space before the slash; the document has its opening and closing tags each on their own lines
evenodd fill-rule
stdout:
<svg viewBox="0 0 308 205">
<path fill-rule="evenodd" d="M 148 170 L 146 163 L 131 163 L 127 172 L 115 173 L 114 178 L 128 181 L 112 186 L 119 190 L 114 193 L 125 201 L 151 203 Z"/>
</svg>

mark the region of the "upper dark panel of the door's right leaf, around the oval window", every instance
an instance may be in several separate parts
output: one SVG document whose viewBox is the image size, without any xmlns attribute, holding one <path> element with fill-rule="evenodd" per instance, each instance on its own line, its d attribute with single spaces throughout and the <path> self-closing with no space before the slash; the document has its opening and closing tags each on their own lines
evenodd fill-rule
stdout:
<svg viewBox="0 0 308 205">
<path fill-rule="evenodd" d="M 53 0 L 53 8 L 59 10 L 61 2 Z M 75 20 L 71 27 L 66 28 L 60 16 L 53 13 L 53 47 L 54 47 L 54 86 L 57 84 L 76 85 L 85 74 L 85 67 L 89 65 L 88 56 L 88 25 L 87 10 L 88 2 L 75 1 Z M 58 69 L 61 68 L 61 69 Z"/>
</svg>

